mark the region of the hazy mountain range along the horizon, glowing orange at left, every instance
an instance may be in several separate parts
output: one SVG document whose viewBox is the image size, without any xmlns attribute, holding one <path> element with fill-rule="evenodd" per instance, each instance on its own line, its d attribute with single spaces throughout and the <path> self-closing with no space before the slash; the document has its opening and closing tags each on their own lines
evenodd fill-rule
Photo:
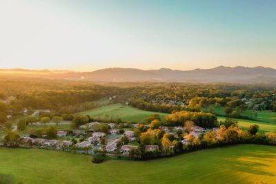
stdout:
<svg viewBox="0 0 276 184">
<path fill-rule="evenodd" d="M 7 72 L 8 71 L 8 72 Z M 72 72 L 68 70 L 0 70 L 0 75 L 32 76 L 47 79 L 66 79 L 94 82 L 185 82 L 185 83 L 272 83 L 276 84 L 276 70 L 273 68 L 244 66 L 219 66 L 210 69 L 139 70 L 135 68 L 106 68 L 93 72 Z"/>
</svg>

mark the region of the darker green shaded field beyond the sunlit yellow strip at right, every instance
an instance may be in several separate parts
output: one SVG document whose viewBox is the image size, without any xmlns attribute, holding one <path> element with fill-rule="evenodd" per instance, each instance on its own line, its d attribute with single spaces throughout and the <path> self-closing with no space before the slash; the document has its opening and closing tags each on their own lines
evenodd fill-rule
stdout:
<svg viewBox="0 0 276 184">
<path fill-rule="evenodd" d="M 215 114 L 218 114 L 220 116 L 225 116 L 225 112 L 224 112 L 225 108 L 219 107 L 219 108 L 215 108 L 213 110 L 213 112 Z M 202 110 L 204 110 L 205 112 L 208 112 L 207 109 L 203 108 Z M 256 121 L 262 121 L 262 122 L 267 122 L 267 123 L 275 123 L 273 121 L 273 118 L 276 117 L 276 112 L 272 112 L 269 110 L 264 110 L 264 111 L 257 111 L 257 116 L 255 115 L 255 112 L 253 110 L 246 110 L 246 112 L 244 112 L 242 114 L 243 116 L 248 116 L 251 119 L 254 119 Z"/>
</svg>

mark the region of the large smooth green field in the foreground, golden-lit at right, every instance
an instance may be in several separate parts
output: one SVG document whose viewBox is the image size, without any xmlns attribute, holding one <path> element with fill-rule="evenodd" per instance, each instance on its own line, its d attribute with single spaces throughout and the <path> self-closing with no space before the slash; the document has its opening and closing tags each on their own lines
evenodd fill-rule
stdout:
<svg viewBox="0 0 276 184">
<path fill-rule="evenodd" d="M 91 163 L 50 150 L 0 148 L 0 174 L 28 183 L 275 183 L 276 147 L 235 145 L 168 159 Z"/>
</svg>

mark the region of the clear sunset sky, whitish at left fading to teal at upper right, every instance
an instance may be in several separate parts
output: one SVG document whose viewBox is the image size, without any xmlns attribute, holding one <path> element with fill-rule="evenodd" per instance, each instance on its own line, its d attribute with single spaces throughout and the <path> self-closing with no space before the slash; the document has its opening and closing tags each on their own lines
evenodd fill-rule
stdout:
<svg viewBox="0 0 276 184">
<path fill-rule="evenodd" d="M 276 1 L 0 1 L 0 68 L 218 65 L 276 68 Z"/>
</svg>

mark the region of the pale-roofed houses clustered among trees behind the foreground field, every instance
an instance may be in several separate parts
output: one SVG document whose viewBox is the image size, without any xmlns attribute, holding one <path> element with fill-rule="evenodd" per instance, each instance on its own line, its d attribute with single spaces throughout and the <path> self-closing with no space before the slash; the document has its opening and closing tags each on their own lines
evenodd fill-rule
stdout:
<svg viewBox="0 0 276 184">
<path fill-rule="evenodd" d="M 57 132 L 57 136 L 59 139 L 68 139 L 69 136 L 72 135 L 72 138 L 80 139 L 81 142 L 73 143 L 74 141 L 58 141 L 58 140 L 47 140 L 47 139 L 33 139 L 30 137 L 22 137 L 21 138 L 21 145 L 27 147 L 42 147 L 42 148 L 52 148 L 56 150 L 65 150 L 71 148 L 75 148 L 81 152 L 81 150 L 86 151 L 86 154 L 93 154 L 93 152 L 97 149 L 101 149 L 103 147 L 106 148 L 106 151 L 110 154 L 114 154 L 115 152 L 121 152 L 122 155 L 126 156 L 130 153 L 130 150 L 138 149 L 138 145 L 124 145 L 122 141 L 122 137 L 126 136 L 128 141 L 137 141 L 137 137 L 135 136 L 135 132 L 132 130 L 126 130 L 124 133 L 121 132 L 115 123 L 108 123 L 109 130 L 108 134 L 105 132 L 92 132 L 83 130 L 83 128 L 89 127 L 92 130 L 92 127 L 95 125 L 99 125 L 99 122 L 91 122 L 86 125 L 82 125 L 80 130 L 72 130 L 72 134 L 60 130 Z M 147 125 L 148 126 L 148 125 Z M 133 124 L 132 127 L 139 127 L 139 124 Z M 177 131 L 181 130 L 181 132 L 185 132 L 185 128 L 181 126 L 175 127 L 167 127 L 167 126 L 160 126 L 160 130 L 164 130 L 164 132 L 169 133 L 177 137 Z M 212 129 L 214 132 L 217 132 L 219 128 L 215 127 Z M 197 139 L 199 134 L 204 134 L 210 130 L 206 130 L 203 127 L 194 126 L 190 129 L 188 134 L 185 134 L 181 140 L 181 143 L 184 145 L 189 144 L 189 139 L 193 136 L 194 139 Z M 90 135 L 90 136 L 89 136 Z M 173 147 L 172 147 L 173 148 Z M 145 145 L 144 152 L 161 152 L 161 147 L 159 145 Z M 88 152 L 89 151 L 89 152 Z"/>
</svg>

